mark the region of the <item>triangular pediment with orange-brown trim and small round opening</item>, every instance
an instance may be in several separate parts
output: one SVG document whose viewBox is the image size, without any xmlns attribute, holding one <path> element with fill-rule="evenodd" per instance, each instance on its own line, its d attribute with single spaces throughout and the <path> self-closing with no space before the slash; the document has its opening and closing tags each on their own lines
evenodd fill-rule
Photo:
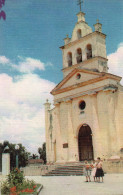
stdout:
<svg viewBox="0 0 123 195">
<path fill-rule="evenodd" d="M 74 69 L 70 72 L 53 90 L 53 92 L 57 90 L 62 90 L 64 88 L 68 88 L 70 86 L 75 86 L 84 82 L 88 82 L 91 80 L 98 79 L 102 77 L 101 73 L 93 72 L 90 70 L 83 70 L 83 69 Z"/>
</svg>

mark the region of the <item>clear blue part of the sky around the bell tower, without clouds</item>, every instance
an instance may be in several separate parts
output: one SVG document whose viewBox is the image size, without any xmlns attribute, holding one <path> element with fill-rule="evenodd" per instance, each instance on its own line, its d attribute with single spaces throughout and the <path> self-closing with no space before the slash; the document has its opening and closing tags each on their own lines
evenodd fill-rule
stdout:
<svg viewBox="0 0 123 195">
<path fill-rule="evenodd" d="M 62 79 L 62 55 L 59 47 L 66 34 L 71 36 L 79 11 L 76 0 L 6 0 L 6 22 L 0 22 L 0 54 L 16 62 L 17 56 L 52 63 L 43 78 L 58 83 Z M 107 35 L 107 54 L 114 52 L 123 40 L 123 1 L 86 0 L 86 21 L 93 27 L 98 18 Z M 3 69 L 2 69 L 3 71 Z M 5 70 L 7 71 L 7 70 Z M 9 74 L 17 74 L 14 70 Z"/>
</svg>

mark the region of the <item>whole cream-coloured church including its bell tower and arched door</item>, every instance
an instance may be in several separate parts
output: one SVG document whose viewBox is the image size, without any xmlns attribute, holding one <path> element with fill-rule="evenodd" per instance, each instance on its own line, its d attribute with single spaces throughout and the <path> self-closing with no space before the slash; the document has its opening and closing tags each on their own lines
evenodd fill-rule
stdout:
<svg viewBox="0 0 123 195">
<path fill-rule="evenodd" d="M 47 162 L 78 162 L 123 157 L 123 86 L 108 73 L 106 35 L 94 32 L 85 13 L 61 46 L 63 80 L 51 91 L 54 108 L 45 103 Z"/>
</svg>

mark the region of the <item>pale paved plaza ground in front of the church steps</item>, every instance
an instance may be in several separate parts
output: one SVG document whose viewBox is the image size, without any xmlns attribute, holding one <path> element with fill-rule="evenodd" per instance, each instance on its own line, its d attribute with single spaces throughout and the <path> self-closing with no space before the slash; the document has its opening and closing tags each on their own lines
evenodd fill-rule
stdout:
<svg viewBox="0 0 123 195">
<path fill-rule="evenodd" d="M 40 195 L 123 195 L 123 174 L 106 174 L 104 183 L 86 183 L 84 176 L 27 178 L 43 184 Z"/>
</svg>

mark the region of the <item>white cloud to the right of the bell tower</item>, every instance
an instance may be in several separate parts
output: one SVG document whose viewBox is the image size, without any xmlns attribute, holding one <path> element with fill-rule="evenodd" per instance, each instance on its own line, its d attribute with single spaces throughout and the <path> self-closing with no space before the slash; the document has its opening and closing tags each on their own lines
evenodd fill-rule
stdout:
<svg viewBox="0 0 123 195">
<path fill-rule="evenodd" d="M 109 72 L 123 77 L 123 43 L 118 45 L 117 50 L 108 55 Z M 122 79 L 123 84 L 123 79 Z"/>
</svg>

